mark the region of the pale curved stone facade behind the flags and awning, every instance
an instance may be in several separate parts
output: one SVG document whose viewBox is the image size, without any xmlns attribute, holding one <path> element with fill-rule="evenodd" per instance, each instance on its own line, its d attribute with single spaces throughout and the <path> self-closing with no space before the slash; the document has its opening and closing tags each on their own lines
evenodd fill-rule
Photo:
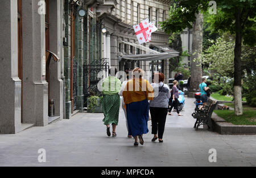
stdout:
<svg viewBox="0 0 256 178">
<path fill-rule="evenodd" d="M 169 76 L 170 59 L 159 61 L 131 61 L 120 60 L 122 55 L 144 54 L 139 48 L 130 43 L 137 43 L 138 40 L 133 30 L 133 25 L 141 23 L 143 19 L 149 18 L 155 22 L 159 28 L 158 22 L 162 22 L 168 17 L 170 1 L 144 1 L 144 0 L 108 0 L 102 5 L 96 7 L 97 18 L 104 23 L 108 31 L 102 40 L 102 56 L 110 59 L 110 66 L 117 68 L 119 71 L 141 67 L 146 72 L 159 71 Z M 143 44 L 147 48 L 160 51 L 159 47 L 168 47 L 169 35 L 163 31 L 152 34 L 151 43 Z M 106 39 L 106 40 L 105 40 Z M 124 42 L 129 42 L 126 44 Z M 109 45 L 110 44 L 110 45 Z M 106 45 L 106 51 L 104 51 Z M 166 77 L 166 82 L 168 77 Z"/>
</svg>

